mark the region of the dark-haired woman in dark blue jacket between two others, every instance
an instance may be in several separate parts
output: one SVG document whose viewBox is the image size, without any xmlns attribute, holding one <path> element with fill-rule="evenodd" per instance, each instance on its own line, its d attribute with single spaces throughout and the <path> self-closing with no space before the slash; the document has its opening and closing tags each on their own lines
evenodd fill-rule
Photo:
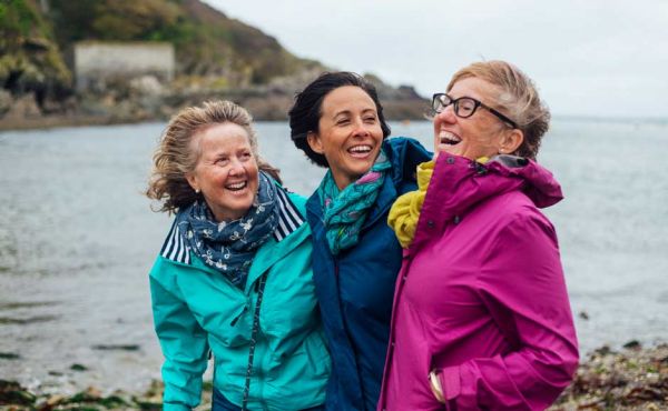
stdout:
<svg viewBox="0 0 668 411">
<path fill-rule="evenodd" d="M 351 72 L 325 73 L 289 110 L 295 146 L 323 181 L 306 203 L 313 271 L 332 355 L 328 410 L 374 410 L 387 348 L 401 247 L 390 207 L 414 190 L 415 167 L 431 158 L 420 143 L 387 139 L 375 88 Z"/>
</svg>

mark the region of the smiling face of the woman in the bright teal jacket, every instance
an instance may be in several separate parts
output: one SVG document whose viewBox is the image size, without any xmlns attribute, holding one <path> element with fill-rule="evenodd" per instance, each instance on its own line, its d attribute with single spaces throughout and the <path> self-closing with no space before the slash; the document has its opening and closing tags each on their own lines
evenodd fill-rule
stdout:
<svg viewBox="0 0 668 411">
<path fill-rule="evenodd" d="M 222 123 L 193 136 L 191 148 L 199 153 L 188 183 L 202 191 L 216 221 L 238 220 L 246 214 L 257 193 L 257 162 L 248 134 L 240 126 Z"/>
</svg>

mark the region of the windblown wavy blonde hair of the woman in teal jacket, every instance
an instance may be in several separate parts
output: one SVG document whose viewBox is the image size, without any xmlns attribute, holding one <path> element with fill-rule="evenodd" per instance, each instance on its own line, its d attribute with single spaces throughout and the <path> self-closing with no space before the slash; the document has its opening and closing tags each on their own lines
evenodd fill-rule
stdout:
<svg viewBox="0 0 668 411">
<path fill-rule="evenodd" d="M 202 193 L 196 193 L 186 179 L 195 170 L 200 154 L 191 143 L 193 137 L 206 127 L 227 122 L 246 130 L 257 168 L 281 182 L 279 170 L 258 156 L 257 134 L 248 111 L 232 101 L 206 101 L 179 111 L 160 136 L 146 190 L 149 199 L 160 203 L 155 211 L 178 212 L 202 198 Z"/>
</svg>

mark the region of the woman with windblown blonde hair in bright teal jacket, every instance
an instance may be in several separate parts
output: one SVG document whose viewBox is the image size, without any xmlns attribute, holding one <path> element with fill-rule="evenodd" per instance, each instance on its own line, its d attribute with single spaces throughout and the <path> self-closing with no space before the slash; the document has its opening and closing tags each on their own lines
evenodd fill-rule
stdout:
<svg viewBox="0 0 668 411">
<path fill-rule="evenodd" d="M 176 114 L 147 190 L 176 212 L 150 271 L 164 409 L 322 410 L 330 357 L 311 269 L 305 200 L 262 161 L 248 112 L 229 101 Z"/>
</svg>

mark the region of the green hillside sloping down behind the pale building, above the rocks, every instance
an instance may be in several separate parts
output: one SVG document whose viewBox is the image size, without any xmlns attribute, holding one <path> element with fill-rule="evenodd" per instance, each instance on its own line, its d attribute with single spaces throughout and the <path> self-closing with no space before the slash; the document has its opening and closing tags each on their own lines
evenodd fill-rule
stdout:
<svg viewBox="0 0 668 411">
<path fill-rule="evenodd" d="M 35 81 L 68 83 L 62 52 L 82 40 L 167 41 L 176 49 L 177 76 L 216 78 L 228 87 L 320 66 L 198 0 L 4 0 L 0 30 L 6 89 L 10 78 L 23 90 L 36 89 Z"/>
</svg>

